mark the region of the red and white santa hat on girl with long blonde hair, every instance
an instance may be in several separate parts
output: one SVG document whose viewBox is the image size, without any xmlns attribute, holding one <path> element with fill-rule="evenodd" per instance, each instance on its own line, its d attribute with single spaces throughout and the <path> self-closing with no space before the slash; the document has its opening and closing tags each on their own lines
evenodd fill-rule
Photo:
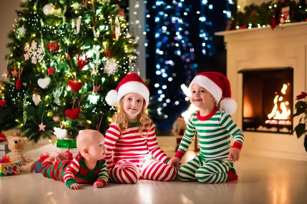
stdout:
<svg viewBox="0 0 307 204">
<path fill-rule="evenodd" d="M 144 97 L 145 107 L 149 103 L 149 88 L 136 73 L 130 73 L 122 79 L 116 90 L 111 90 L 105 96 L 105 101 L 110 106 L 119 104 L 120 99 L 128 93 L 138 93 Z"/>
</svg>

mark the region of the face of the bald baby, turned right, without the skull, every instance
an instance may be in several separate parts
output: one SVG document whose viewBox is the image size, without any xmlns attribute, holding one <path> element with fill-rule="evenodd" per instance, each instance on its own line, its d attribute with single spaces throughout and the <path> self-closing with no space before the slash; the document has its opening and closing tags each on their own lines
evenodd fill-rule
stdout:
<svg viewBox="0 0 307 204">
<path fill-rule="evenodd" d="M 104 146 L 104 137 L 94 137 L 89 145 L 89 153 L 95 160 L 104 159 L 106 147 Z"/>
</svg>

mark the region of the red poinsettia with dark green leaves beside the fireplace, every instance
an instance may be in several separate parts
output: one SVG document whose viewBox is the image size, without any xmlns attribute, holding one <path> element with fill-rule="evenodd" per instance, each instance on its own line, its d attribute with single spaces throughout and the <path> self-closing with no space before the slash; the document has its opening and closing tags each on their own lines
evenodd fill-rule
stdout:
<svg viewBox="0 0 307 204">
<path fill-rule="evenodd" d="M 296 96 L 297 103 L 295 104 L 296 113 L 293 117 L 299 116 L 302 114 L 302 117 L 299 119 L 298 125 L 295 126 L 293 133 L 296 133 L 297 138 L 300 138 L 304 135 L 304 147 L 307 151 L 307 130 L 306 130 L 306 123 L 307 123 L 307 102 L 306 102 L 307 93 L 301 92 L 300 95 Z"/>
</svg>

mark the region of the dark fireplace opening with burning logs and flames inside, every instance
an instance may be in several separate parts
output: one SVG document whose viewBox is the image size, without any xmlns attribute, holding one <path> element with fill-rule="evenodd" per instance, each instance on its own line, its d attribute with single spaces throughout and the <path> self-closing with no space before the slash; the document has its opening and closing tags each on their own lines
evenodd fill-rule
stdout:
<svg viewBox="0 0 307 204">
<path fill-rule="evenodd" d="M 244 69 L 243 131 L 293 130 L 293 68 Z"/>
</svg>

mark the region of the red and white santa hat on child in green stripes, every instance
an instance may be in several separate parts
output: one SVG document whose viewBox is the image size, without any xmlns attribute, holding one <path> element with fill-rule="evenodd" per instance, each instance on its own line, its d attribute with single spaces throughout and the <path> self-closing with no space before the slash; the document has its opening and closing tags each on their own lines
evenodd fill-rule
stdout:
<svg viewBox="0 0 307 204">
<path fill-rule="evenodd" d="M 192 92 L 192 86 L 198 84 L 215 98 L 215 105 L 217 106 L 220 100 L 221 109 L 229 114 L 232 114 L 237 109 L 237 104 L 234 99 L 231 99 L 230 82 L 223 74 L 218 72 L 201 72 L 192 80 L 189 85 L 189 90 Z"/>
</svg>

